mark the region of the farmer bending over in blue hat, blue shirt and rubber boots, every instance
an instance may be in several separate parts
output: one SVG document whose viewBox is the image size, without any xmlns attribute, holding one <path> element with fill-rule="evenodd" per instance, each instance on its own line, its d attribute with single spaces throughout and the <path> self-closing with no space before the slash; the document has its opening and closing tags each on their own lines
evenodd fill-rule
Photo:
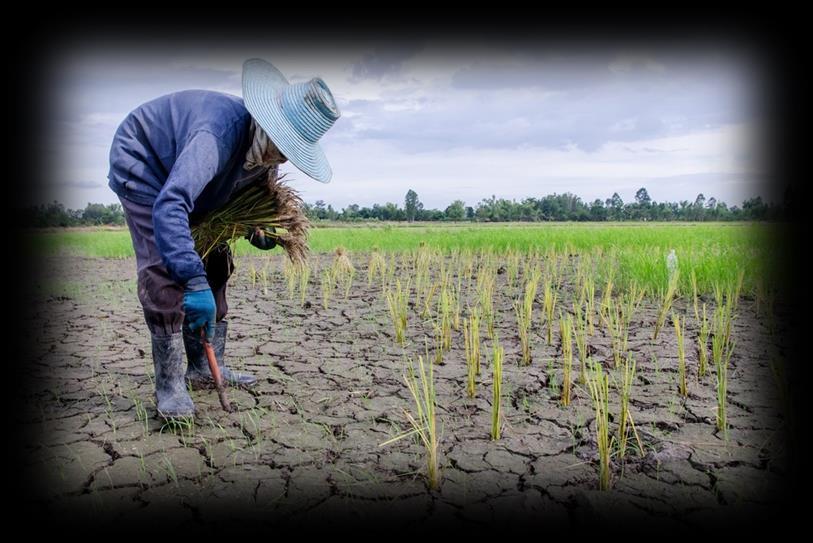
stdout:
<svg viewBox="0 0 813 543">
<path fill-rule="evenodd" d="M 190 224 L 223 207 L 239 189 L 267 180 L 286 160 L 317 181 L 330 181 L 318 140 L 338 117 L 321 79 L 292 85 L 268 62 L 251 59 L 243 65 L 242 100 L 204 90 L 177 92 L 140 106 L 116 131 L 109 185 L 121 200 L 135 249 L 160 416 L 191 417 L 195 406 L 186 382 L 193 388 L 213 383 L 202 333 L 214 347 L 224 382 L 256 382 L 231 371 L 224 358 L 231 252 L 224 244 L 201 259 Z M 260 226 L 246 237 L 260 249 L 274 247 Z"/>
</svg>

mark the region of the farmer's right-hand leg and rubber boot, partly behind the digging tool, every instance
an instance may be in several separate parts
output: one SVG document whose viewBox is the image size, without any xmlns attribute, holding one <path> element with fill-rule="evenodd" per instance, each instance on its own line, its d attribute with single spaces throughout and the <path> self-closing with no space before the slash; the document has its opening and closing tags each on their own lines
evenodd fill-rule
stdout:
<svg viewBox="0 0 813 543">
<path fill-rule="evenodd" d="M 215 304 L 217 306 L 217 322 L 215 323 L 215 336 L 212 340 L 212 347 L 215 351 L 217 364 L 220 367 L 220 373 L 223 375 L 223 380 L 227 384 L 252 386 L 257 382 L 254 376 L 248 373 L 232 371 L 226 365 L 225 360 L 226 336 L 229 330 L 229 323 L 224 319 L 229 310 L 228 303 L 226 302 L 226 286 L 229 277 L 234 271 L 234 261 L 229 246 L 223 245 L 212 251 L 205 259 L 204 266 L 206 268 L 206 277 L 209 281 L 209 286 L 212 288 L 212 294 L 214 294 Z M 200 345 L 200 341 L 195 341 L 194 339 L 189 328 L 185 326 L 184 340 L 186 342 L 186 354 L 189 360 L 186 378 L 192 385 L 192 388 L 212 386 L 214 381 L 212 379 L 212 373 L 209 370 L 206 355 L 203 352 L 203 347 Z"/>
</svg>

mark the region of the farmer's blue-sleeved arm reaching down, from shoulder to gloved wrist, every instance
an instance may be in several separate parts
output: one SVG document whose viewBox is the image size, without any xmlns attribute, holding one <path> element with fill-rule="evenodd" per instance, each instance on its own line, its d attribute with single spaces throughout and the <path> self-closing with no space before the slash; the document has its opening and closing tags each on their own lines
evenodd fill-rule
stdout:
<svg viewBox="0 0 813 543">
<path fill-rule="evenodd" d="M 209 288 L 189 227 L 189 214 L 229 153 L 214 134 L 201 131 L 184 147 L 153 205 L 155 244 L 170 277 L 186 290 Z"/>
</svg>

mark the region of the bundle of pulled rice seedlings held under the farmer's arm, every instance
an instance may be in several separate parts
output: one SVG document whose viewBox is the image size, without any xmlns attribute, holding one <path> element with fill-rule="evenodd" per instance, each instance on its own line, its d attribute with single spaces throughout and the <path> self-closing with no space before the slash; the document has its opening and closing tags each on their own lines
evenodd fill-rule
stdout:
<svg viewBox="0 0 813 543">
<path fill-rule="evenodd" d="M 305 262 L 310 222 L 302 198 L 285 185 L 283 177 L 274 174 L 263 183 L 246 187 L 221 209 L 207 215 L 192 228 L 192 239 L 198 254 L 206 258 L 215 247 L 234 243 L 257 226 L 266 236 L 275 238 L 291 262 Z"/>
</svg>

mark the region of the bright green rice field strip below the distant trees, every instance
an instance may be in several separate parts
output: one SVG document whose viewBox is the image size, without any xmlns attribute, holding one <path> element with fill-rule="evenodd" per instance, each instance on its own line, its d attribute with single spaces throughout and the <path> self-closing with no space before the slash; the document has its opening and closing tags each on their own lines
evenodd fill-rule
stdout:
<svg viewBox="0 0 813 543">
<path fill-rule="evenodd" d="M 607 256 L 618 272 L 619 288 L 632 282 L 657 292 L 666 283 L 666 255 L 674 249 L 681 270 L 680 288 L 690 288 L 691 272 L 700 292 L 730 284 L 743 274 L 743 293 L 770 288 L 781 254 L 783 226 L 762 223 L 659 224 L 449 224 L 314 227 L 310 247 L 327 253 L 339 246 L 351 253 L 411 251 L 422 244 L 444 252 L 472 251 Z M 37 256 L 73 255 L 101 258 L 133 256 L 126 229 L 32 231 L 29 247 Z M 279 250 L 272 251 L 278 253 Z M 261 255 L 246 241 L 236 255 Z"/>
</svg>

